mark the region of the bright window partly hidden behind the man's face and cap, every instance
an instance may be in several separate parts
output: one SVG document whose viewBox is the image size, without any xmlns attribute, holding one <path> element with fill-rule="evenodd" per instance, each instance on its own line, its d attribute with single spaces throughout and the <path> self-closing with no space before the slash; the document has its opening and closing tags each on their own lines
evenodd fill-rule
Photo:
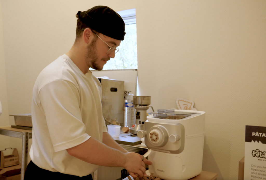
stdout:
<svg viewBox="0 0 266 180">
<path fill-rule="evenodd" d="M 125 22 L 125 39 L 121 41 L 115 58 L 107 61 L 103 70 L 138 69 L 136 9 L 117 12 Z"/>
</svg>

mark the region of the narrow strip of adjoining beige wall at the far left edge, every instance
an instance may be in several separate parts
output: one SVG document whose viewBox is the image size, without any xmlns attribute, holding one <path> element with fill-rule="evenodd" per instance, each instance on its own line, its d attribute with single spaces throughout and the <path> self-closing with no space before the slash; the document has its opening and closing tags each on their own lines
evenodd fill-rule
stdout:
<svg viewBox="0 0 266 180">
<path fill-rule="evenodd" d="M 9 125 L 9 111 L 7 105 L 7 87 L 6 87 L 6 66 L 3 43 L 3 21 L 2 21 L 2 3 L 0 1 L 0 101 L 2 104 L 2 115 L 0 117 L 0 126 Z M 0 150 L 10 147 L 10 137 L 0 135 Z"/>
</svg>

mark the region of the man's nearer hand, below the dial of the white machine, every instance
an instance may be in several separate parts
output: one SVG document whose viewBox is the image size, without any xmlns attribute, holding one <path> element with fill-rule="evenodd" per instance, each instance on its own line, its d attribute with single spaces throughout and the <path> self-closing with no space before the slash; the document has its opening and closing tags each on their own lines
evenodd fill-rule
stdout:
<svg viewBox="0 0 266 180">
<path fill-rule="evenodd" d="M 144 158 L 142 161 L 143 156 L 134 152 L 124 153 L 126 158 L 126 164 L 124 164 L 123 168 L 125 168 L 128 173 L 133 177 L 136 178 L 138 174 L 139 177 L 142 177 L 146 174 L 145 164 L 151 165 L 152 162 Z"/>
</svg>

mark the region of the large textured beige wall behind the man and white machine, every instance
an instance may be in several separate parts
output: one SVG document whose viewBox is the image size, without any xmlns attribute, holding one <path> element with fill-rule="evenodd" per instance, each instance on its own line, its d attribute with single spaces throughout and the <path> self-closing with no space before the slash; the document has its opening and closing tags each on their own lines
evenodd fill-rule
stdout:
<svg viewBox="0 0 266 180">
<path fill-rule="evenodd" d="M 35 79 L 72 46 L 79 10 L 136 8 L 139 95 L 155 110 L 193 100 L 206 112 L 203 170 L 237 179 L 245 125 L 266 125 L 266 1 L 1 2 L 9 114 L 31 112 Z"/>
</svg>

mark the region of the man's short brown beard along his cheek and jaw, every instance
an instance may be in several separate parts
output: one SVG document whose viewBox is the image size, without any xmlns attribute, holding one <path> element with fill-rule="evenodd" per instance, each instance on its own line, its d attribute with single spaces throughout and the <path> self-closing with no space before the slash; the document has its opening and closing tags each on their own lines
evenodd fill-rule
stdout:
<svg viewBox="0 0 266 180">
<path fill-rule="evenodd" d="M 95 70 L 102 70 L 103 67 L 99 67 L 98 64 L 96 63 L 98 60 L 98 56 L 96 54 L 97 49 L 96 49 L 96 38 L 93 39 L 93 41 L 90 43 L 90 45 L 87 47 L 87 54 L 85 56 L 86 64 Z"/>
</svg>

